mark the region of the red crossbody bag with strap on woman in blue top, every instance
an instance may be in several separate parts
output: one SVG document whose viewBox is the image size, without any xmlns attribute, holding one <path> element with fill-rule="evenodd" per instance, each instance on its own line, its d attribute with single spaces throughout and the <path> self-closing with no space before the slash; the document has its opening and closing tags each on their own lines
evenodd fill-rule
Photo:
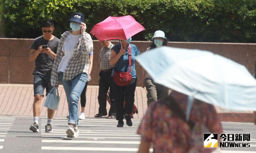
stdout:
<svg viewBox="0 0 256 153">
<path fill-rule="evenodd" d="M 127 72 L 116 72 L 114 69 L 113 79 L 114 82 L 119 86 L 126 86 L 131 83 L 132 74 L 131 74 L 131 67 L 132 67 L 132 54 L 131 54 L 131 46 L 129 44 L 129 70 Z"/>
</svg>

